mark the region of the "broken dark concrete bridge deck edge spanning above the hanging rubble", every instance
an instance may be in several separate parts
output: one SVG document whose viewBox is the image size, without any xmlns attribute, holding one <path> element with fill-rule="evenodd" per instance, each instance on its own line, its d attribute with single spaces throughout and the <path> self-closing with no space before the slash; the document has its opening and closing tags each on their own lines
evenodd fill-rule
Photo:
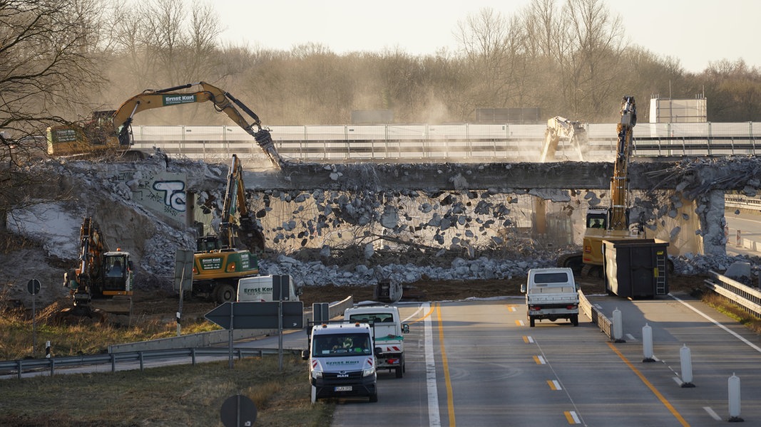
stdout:
<svg viewBox="0 0 761 427">
<path fill-rule="evenodd" d="M 629 188 L 684 193 L 743 190 L 758 186 L 759 164 L 753 157 L 632 162 Z M 613 163 L 288 163 L 282 171 L 244 175 L 250 190 L 594 190 L 610 188 Z"/>
</svg>

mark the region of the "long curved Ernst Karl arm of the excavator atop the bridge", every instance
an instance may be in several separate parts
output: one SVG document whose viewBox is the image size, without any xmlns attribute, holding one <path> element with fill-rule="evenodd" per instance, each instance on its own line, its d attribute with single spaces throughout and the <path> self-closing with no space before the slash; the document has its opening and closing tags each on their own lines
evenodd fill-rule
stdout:
<svg viewBox="0 0 761 427">
<path fill-rule="evenodd" d="M 183 89 L 199 86 L 201 89 L 196 92 L 186 92 Z M 161 108 L 165 106 L 175 106 L 185 103 L 204 103 L 211 101 L 218 112 L 227 114 L 233 122 L 240 128 L 243 128 L 247 134 L 253 136 L 256 144 L 264 150 L 270 162 L 282 169 L 284 161 L 275 150 L 275 143 L 272 141 L 272 135 L 267 129 L 262 128 L 262 122 L 248 106 L 237 100 L 230 93 L 221 90 L 212 84 L 200 81 L 198 83 L 183 84 L 181 86 L 168 87 L 161 90 L 144 90 L 138 95 L 132 96 L 126 100 L 119 109 L 113 114 L 113 128 L 119 138 L 119 145 L 129 145 L 130 125 L 132 118 L 138 112 L 146 109 Z M 238 106 L 253 121 L 251 123 L 235 108 Z M 256 129 L 254 129 L 256 128 Z"/>
</svg>

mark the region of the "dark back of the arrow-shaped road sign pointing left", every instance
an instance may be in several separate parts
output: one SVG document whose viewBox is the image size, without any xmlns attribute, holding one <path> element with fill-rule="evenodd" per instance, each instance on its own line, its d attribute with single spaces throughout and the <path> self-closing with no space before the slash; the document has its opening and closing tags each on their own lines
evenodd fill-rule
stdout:
<svg viewBox="0 0 761 427">
<path fill-rule="evenodd" d="M 224 302 L 203 317 L 224 329 L 279 329 L 279 305 L 282 304 L 282 328 L 304 327 L 304 302 Z"/>
</svg>

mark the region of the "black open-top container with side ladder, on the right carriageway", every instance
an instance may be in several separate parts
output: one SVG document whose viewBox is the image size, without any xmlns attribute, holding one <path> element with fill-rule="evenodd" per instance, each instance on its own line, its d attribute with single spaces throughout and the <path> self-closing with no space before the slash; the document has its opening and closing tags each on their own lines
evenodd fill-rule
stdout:
<svg viewBox="0 0 761 427">
<path fill-rule="evenodd" d="M 603 240 L 605 289 L 632 299 L 668 293 L 668 242 L 658 239 Z"/>
</svg>

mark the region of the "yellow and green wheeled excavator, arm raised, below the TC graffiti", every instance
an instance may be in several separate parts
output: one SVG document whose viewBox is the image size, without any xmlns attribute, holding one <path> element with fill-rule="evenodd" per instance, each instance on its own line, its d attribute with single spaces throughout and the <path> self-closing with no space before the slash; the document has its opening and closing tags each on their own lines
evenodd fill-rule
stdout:
<svg viewBox="0 0 761 427">
<path fill-rule="evenodd" d="M 257 252 L 264 250 L 264 235 L 246 204 L 243 166 L 237 156 L 228 174 L 222 217 L 216 236 L 199 237 L 193 254 L 193 296 L 215 302 L 237 298 L 237 281 L 259 274 Z"/>
</svg>

